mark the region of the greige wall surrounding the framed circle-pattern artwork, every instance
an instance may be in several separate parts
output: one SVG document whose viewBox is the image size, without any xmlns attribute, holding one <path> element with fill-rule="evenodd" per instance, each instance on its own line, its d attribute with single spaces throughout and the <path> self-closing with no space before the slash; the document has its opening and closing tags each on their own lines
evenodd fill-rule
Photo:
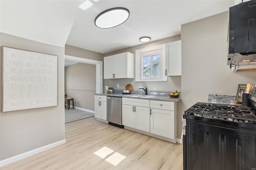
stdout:
<svg viewBox="0 0 256 170">
<path fill-rule="evenodd" d="M 58 56 L 58 106 L 0 113 L 0 160 L 4 160 L 64 140 L 64 48 L 5 33 L 0 37 L 0 46 Z"/>
</svg>

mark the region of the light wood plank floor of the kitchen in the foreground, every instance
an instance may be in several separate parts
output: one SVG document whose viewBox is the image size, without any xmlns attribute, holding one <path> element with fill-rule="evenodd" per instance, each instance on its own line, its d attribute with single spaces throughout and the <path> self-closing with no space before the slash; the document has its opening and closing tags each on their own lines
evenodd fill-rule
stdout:
<svg viewBox="0 0 256 170">
<path fill-rule="evenodd" d="M 173 144 L 97 121 L 68 123 L 66 144 L 3 166 L 1 170 L 182 170 L 182 144 Z M 105 158 L 94 152 L 114 150 Z M 126 156 L 116 166 L 105 159 Z"/>
</svg>

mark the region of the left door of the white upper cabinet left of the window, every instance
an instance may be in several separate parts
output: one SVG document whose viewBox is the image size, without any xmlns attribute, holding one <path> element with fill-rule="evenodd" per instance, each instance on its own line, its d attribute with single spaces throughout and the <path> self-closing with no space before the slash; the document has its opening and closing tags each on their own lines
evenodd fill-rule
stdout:
<svg viewBox="0 0 256 170">
<path fill-rule="evenodd" d="M 115 69 L 115 56 L 104 57 L 104 79 L 113 78 Z"/>
</svg>

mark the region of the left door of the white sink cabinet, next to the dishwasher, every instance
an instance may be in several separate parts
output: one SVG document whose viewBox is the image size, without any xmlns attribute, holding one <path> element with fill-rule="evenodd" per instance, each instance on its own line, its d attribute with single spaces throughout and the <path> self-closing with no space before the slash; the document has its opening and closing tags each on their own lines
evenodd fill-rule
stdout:
<svg viewBox="0 0 256 170">
<path fill-rule="evenodd" d="M 122 105 L 122 125 L 134 128 L 134 106 Z"/>
</svg>

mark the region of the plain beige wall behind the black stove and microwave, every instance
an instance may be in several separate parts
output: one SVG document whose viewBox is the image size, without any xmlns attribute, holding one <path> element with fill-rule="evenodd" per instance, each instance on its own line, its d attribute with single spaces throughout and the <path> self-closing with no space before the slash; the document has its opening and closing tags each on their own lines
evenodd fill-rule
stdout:
<svg viewBox="0 0 256 170">
<path fill-rule="evenodd" d="M 256 84 L 255 71 L 231 72 L 226 65 L 227 38 L 228 11 L 181 26 L 183 113 L 210 93 L 235 96 L 238 84 Z"/>
</svg>

